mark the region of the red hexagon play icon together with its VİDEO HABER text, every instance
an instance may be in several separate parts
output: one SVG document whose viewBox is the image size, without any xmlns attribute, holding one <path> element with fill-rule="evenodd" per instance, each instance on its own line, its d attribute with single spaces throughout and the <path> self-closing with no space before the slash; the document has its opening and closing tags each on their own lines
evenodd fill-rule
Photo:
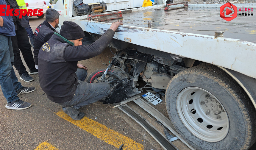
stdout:
<svg viewBox="0 0 256 150">
<path fill-rule="evenodd" d="M 226 8 L 226 11 L 225 11 Z M 230 9 L 231 10 L 230 10 Z M 234 12 L 233 12 L 233 11 Z M 239 12 L 237 12 L 239 10 Z M 253 8 L 250 7 L 241 7 L 238 8 L 231 3 L 226 3 L 220 7 L 220 16 L 221 18 L 225 19 L 226 21 L 231 21 L 238 16 L 241 17 L 253 17 Z M 225 14 L 226 12 L 226 14 Z"/>
</svg>

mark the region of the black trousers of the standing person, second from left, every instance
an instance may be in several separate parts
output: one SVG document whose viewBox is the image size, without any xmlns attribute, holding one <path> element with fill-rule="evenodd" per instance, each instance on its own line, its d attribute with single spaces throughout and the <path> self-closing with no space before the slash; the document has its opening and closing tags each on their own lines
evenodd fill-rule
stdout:
<svg viewBox="0 0 256 150">
<path fill-rule="evenodd" d="M 11 37 L 13 43 L 14 67 L 18 70 L 19 75 L 22 75 L 26 72 L 26 68 L 22 63 L 20 51 L 30 70 L 35 70 L 35 61 L 26 29 L 17 25 L 15 32 L 16 35 Z"/>
</svg>

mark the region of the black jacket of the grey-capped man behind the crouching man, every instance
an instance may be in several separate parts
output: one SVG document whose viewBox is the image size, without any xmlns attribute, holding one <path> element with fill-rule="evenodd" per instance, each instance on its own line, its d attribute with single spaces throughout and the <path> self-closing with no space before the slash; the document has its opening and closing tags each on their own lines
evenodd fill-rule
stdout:
<svg viewBox="0 0 256 150">
<path fill-rule="evenodd" d="M 42 24 L 40 24 L 36 29 L 35 29 L 35 40 L 34 40 L 34 59 L 35 59 L 35 64 L 38 65 L 38 53 L 39 50 L 41 49 L 42 45 L 49 41 L 51 36 L 56 32 L 56 30 L 47 22 L 43 21 Z"/>
</svg>

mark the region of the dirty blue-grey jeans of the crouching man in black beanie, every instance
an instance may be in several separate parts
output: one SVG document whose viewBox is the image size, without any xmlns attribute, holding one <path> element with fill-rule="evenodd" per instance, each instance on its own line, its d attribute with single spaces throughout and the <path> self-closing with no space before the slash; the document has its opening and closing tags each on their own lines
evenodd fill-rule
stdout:
<svg viewBox="0 0 256 150">
<path fill-rule="evenodd" d="M 78 75 L 77 77 L 79 79 Z M 109 94 L 110 85 L 108 83 L 87 83 L 78 80 L 78 86 L 73 98 L 59 105 L 63 107 L 73 106 L 78 110 L 80 107 L 104 99 Z"/>
</svg>

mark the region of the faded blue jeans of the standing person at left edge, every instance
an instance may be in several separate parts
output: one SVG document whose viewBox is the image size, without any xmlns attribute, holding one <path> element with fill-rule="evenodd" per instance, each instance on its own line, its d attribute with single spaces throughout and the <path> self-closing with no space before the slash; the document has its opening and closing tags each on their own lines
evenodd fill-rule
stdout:
<svg viewBox="0 0 256 150">
<path fill-rule="evenodd" d="M 18 100 L 17 93 L 22 87 L 13 70 L 14 54 L 10 36 L 0 34 L 0 85 L 7 102 Z"/>
</svg>

